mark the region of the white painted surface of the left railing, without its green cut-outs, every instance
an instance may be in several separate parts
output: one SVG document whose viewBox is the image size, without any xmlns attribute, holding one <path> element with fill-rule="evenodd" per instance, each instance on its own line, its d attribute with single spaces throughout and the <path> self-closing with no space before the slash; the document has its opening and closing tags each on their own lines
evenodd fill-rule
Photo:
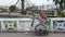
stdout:
<svg viewBox="0 0 65 37">
<path fill-rule="evenodd" d="M 10 22 L 10 21 L 13 21 L 14 23 L 16 22 L 16 28 L 14 27 L 14 24 L 8 24 L 8 27 L 5 28 L 5 24 L 3 22 Z M 23 29 L 29 29 L 31 25 L 31 18 L 0 18 L 0 22 L 1 22 L 1 32 L 2 30 L 6 30 L 8 28 L 13 28 L 13 29 L 16 29 L 18 32 L 22 32 Z M 26 27 L 27 26 L 27 27 Z M 24 28 L 25 27 L 25 28 Z"/>
</svg>

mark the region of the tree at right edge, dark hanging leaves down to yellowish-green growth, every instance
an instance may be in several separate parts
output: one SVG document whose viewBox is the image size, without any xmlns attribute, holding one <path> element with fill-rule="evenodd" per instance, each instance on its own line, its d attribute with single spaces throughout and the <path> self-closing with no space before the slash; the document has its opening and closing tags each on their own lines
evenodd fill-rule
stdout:
<svg viewBox="0 0 65 37">
<path fill-rule="evenodd" d="M 57 15 L 61 17 L 65 17 L 64 13 L 62 13 L 62 11 L 65 10 L 65 0 L 53 0 L 53 2 L 55 2 Z M 60 5 L 58 8 L 57 4 Z"/>
</svg>

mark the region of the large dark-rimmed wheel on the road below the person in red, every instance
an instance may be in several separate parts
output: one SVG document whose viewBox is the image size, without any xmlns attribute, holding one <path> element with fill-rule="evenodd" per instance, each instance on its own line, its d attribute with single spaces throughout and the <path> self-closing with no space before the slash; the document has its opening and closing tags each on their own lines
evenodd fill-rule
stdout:
<svg viewBox="0 0 65 37">
<path fill-rule="evenodd" d="M 47 33 L 47 27 L 46 27 L 44 25 L 38 24 L 38 25 L 35 27 L 35 32 L 36 32 L 36 35 L 48 35 L 48 33 Z"/>
</svg>

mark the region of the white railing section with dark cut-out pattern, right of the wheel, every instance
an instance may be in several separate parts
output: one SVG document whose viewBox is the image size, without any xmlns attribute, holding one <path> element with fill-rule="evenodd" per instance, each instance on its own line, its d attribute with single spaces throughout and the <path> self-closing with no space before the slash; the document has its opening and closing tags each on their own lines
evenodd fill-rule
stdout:
<svg viewBox="0 0 65 37">
<path fill-rule="evenodd" d="M 52 17 L 50 22 L 51 32 L 65 32 L 65 17 Z"/>
</svg>

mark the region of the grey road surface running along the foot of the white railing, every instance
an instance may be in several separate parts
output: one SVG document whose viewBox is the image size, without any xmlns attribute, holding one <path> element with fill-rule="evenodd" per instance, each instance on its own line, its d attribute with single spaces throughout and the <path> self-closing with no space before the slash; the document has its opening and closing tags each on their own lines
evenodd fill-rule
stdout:
<svg viewBox="0 0 65 37">
<path fill-rule="evenodd" d="M 51 33 L 48 36 L 36 36 L 29 33 L 0 33 L 0 37 L 65 37 L 63 33 Z"/>
</svg>

